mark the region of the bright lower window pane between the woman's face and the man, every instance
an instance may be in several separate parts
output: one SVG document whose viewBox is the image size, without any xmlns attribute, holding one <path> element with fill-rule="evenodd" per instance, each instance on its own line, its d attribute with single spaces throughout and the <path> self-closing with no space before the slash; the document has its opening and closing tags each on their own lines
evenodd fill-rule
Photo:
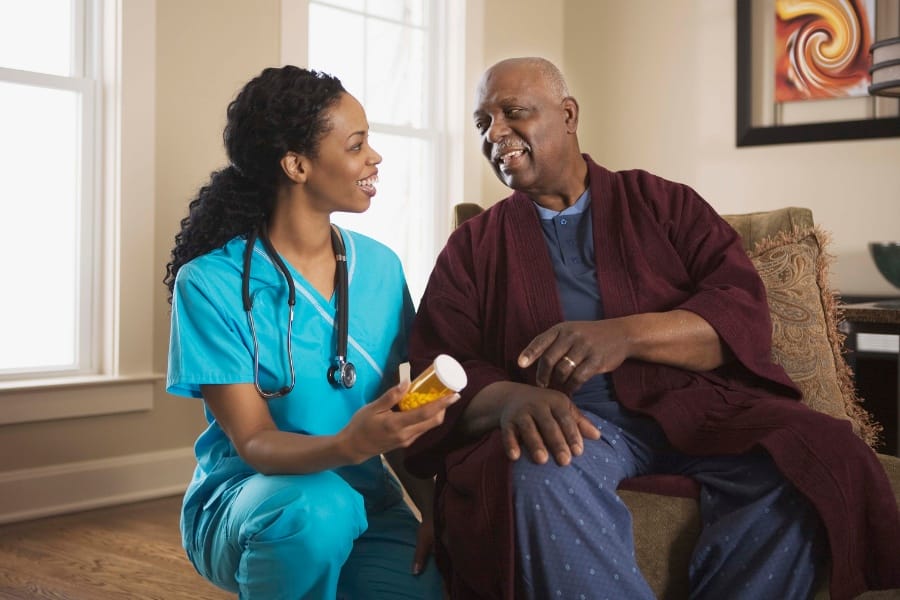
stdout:
<svg viewBox="0 0 900 600">
<path fill-rule="evenodd" d="M 413 299 L 418 303 L 431 271 L 433 174 L 431 143 L 372 133 L 378 165 L 378 193 L 362 214 L 335 213 L 335 223 L 390 246 L 403 259 Z"/>
</svg>

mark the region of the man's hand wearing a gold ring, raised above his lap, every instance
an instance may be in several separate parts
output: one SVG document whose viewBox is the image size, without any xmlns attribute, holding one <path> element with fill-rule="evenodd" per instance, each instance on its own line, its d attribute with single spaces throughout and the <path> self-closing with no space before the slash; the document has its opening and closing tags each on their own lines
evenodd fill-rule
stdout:
<svg viewBox="0 0 900 600">
<path fill-rule="evenodd" d="M 566 321 L 533 340 L 519 355 L 519 366 L 537 361 L 537 384 L 571 394 L 585 381 L 609 373 L 629 356 L 624 321 Z"/>
</svg>

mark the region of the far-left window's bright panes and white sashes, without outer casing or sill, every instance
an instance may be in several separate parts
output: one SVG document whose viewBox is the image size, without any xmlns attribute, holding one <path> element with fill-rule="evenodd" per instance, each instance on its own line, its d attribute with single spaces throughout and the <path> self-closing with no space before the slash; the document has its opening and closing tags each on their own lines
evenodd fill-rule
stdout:
<svg viewBox="0 0 900 600">
<path fill-rule="evenodd" d="M 95 369 L 98 81 L 86 0 L 0 3 L 0 376 Z"/>
</svg>

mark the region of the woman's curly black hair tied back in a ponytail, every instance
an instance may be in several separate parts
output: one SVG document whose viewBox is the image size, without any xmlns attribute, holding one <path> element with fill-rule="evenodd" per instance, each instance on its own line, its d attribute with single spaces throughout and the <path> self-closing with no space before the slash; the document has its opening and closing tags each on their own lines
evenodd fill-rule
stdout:
<svg viewBox="0 0 900 600">
<path fill-rule="evenodd" d="M 284 177 L 287 152 L 315 158 L 330 129 L 327 111 L 345 93 L 337 77 L 295 66 L 270 67 L 228 105 L 223 134 L 231 164 L 214 171 L 188 205 L 163 283 L 169 302 L 178 269 L 262 224 Z"/>
</svg>

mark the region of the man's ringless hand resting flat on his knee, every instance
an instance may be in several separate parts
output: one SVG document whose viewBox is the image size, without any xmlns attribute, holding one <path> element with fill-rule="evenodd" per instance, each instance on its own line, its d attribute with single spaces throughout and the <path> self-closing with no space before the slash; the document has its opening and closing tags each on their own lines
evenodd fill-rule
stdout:
<svg viewBox="0 0 900 600">
<path fill-rule="evenodd" d="M 546 463 L 552 454 L 557 464 L 565 466 L 584 451 L 584 438 L 600 439 L 600 430 L 565 394 L 514 385 L 500 413 L 503 446 L 510 460 L 518 460 L 524 446 L 537 464 Z"/>
</svg>

